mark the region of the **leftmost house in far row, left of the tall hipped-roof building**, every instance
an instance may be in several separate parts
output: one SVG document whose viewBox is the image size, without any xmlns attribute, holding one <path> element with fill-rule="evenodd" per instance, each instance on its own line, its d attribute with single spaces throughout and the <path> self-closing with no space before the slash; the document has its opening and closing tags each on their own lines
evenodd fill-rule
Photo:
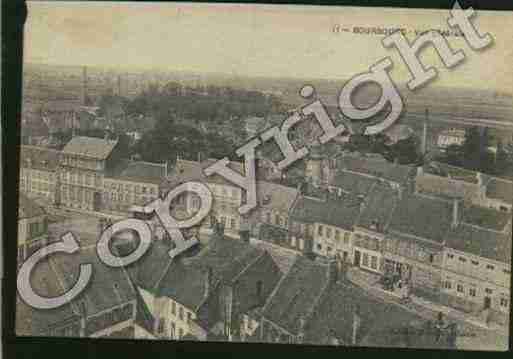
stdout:
<svg viewBox="0 0 513 359">
<path fill-rule="evenodd" d="M 20 192 L 48 204 L 59 198 L 59 151 L 36 146 L 20 146 Z"/>
</svg>

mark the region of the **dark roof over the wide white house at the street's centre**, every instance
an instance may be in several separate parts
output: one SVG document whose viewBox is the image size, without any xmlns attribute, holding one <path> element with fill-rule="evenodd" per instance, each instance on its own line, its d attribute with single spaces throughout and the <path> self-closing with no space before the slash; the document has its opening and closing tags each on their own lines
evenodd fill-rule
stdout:
<svg viewBox="0 0 513 359">
<path fill-rule="evenodd" d="M 301 196 L 292 209 L 291 219 L 303 223 L 323 223 L 351 230 L 359 213 L 360 201 L 353 196 L 324 201 Z"/>
</svg>

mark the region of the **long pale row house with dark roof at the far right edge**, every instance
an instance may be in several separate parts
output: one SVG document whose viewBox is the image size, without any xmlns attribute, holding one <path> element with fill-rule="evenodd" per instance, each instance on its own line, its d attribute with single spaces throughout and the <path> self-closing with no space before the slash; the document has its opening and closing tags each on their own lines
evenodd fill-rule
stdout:
<svg viewBox="0 0 513 359">
<path fill-rule="evenodd" d="M 483 212 L 490 213 L 483 213 Z M 495 213 L 494 213 L 495 212 Z M 480 209 L 486 222 L 468 218 L 446 236 L 441 301 L 484 320 L 508 322 L 511 277 L 511 218 Z"/>
</svg>

